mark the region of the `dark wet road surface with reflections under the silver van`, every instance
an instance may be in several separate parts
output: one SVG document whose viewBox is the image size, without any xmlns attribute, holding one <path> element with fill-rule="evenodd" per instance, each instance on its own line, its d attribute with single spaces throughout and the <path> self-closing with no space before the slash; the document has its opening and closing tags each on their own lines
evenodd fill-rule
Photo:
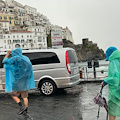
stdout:
<svg viewBox="0 0 120 120">
<path fill-rule="evenodd" d="M 50 97 L 42 96 L 38 91 L 30 92 L 29 113 L 34 120 L 97 120 L 98 105 L 92 99 L 99 90 L 99 83 L 87 83 Z M 106 97 L 107 94 L 105 87 L 103 95 Z M 9 94 L 0 94 L 0 109 L 0 120 L 23 120 L 16 115 L 18 105 Z M 99 120 L 105 119 L 105 109 L 101 108 Z"/>
</svg>

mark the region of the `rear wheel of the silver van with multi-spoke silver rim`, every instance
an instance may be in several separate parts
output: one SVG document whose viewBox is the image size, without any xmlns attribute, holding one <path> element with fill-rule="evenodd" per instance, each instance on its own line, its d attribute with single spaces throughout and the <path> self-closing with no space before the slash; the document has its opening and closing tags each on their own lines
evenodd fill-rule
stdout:
<svg viewBox="0 0 120 120">
<path fill-rule="evenodd" d="M 49 96 L 49 95 L 53 95 L 56 92 L 56 85 L 53 81 L 51 80 L 43 80 L 40 83 L 40 92 L 43 95 Z"/>
</svg>

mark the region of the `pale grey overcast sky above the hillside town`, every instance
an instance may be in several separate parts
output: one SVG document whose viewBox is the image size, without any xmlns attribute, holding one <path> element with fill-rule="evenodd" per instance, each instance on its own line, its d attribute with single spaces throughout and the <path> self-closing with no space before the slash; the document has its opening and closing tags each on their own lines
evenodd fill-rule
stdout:
<svg viewBox="0 0 120 120">
<path fill-rule="evenodd" d="M 68 26 L 75 44 L 89 38 L 104 51 L 120 50 L 120 0 L 15 0 L 47 16 L 54 25 Z"/>
</svg>

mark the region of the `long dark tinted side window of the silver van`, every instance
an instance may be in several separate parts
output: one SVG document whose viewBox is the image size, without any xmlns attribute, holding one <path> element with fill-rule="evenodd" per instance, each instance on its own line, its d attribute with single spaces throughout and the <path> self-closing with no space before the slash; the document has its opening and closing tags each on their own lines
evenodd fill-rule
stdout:
<svg viewBox="0 0 120 120">
<path fill-rule="evenodd" d="M 23 55 L 29 57 L 32 65 L 60 63 L 58 56 L 53 52 L 23 53 Z"/>
</svg>

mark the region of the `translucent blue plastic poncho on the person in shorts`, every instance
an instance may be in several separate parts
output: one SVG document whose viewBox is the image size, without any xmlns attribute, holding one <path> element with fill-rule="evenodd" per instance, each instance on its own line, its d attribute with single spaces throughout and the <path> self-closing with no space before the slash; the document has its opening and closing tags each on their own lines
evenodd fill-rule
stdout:
<svg viewBox="0 0 120 120">
<path fill-rule="evenodd" d="M 5 91 L 26 91 L 35 88 L 32 64 L 22 49 L 11 51 L 12 57 L 3 60 L 5 68 Z"/>
</svg>

